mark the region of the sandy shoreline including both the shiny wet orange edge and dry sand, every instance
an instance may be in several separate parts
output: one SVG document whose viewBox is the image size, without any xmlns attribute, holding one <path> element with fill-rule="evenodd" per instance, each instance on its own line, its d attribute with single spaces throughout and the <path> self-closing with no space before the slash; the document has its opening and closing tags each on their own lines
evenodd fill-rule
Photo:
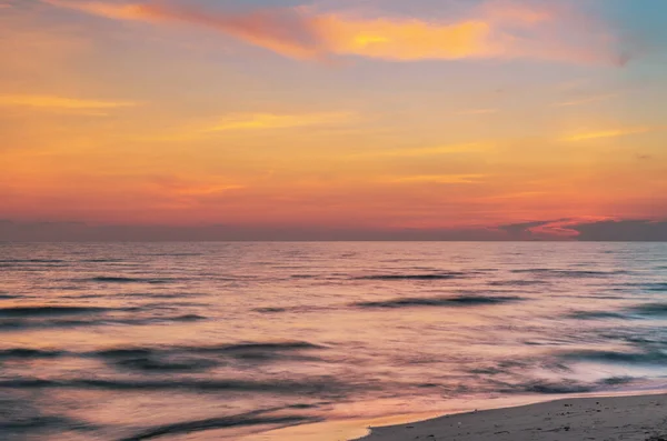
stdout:
<svg viewBox="0 0 667 441">
<path fill-rule="evenodd" d="M 600 404 L 597 404 L 597 403 Z M 485 408 L 485 403 L 495 403 Z M 659 405 L 656 405 L 659 404 Z M 379 418 L 341 419 L 293 425 L 241 437 L 242 441 L 667 441 L 667 390 L 619 391 L 586 394 L 471 400 L 476 404 L 451 411 L 396 414 Z M 479 404 L 479 405 L 477 405 Z M 566 405 L 567 404 L 567 405 Z M 644 408 L 654 412 L 639 421 Z M 474 411 L 469 409 L 479 409 Z M 609 409 L 605 409 L 609 408 Z M 598 410 L 600 412 L 598 412 Z M 569 413 L 568 413 L 569 412 Z M 609 417 L 613 417 L 609 419 Z M 583 420 L 578 420 L 583 418 Z M 456 420 L 456 421 L 455 421 Z M 608 420 L 608 421 L 607 421 Z M 628 422 L 623 422 L 623 421 Z M 598 421 L 597 424 L 594 423 Z M 458 422 L 461 422 L 459 429 Z M 497 425 L 501 425 L 502 429 Z M 570 430 L 565 430 L 569 427 Z M 595 428 L 594 428 L 595 427 Z M 628 429 L 635 427 L 635 438 Z M 475 431 L 471 428 L 478 428 Z M 486 430 L 491 428 L 492 430 Z M 539 430 L 540 429 L 540 430 Z M 560 429 L 560 430 L 559 430 Z M 509 433 L 498 433 L 498 432 Z M 596 432 L 596 433 L 587 433 Z M 428 432 L 428 433 L 427 433 Z M 468 434 L 468 432 L 470 434 Z M 430 437 L 434 435 L 434 437 Z M 555 435 L 555 438 L 549 438 Z M 651 438 L 657 437 L 657 438 Z M 660 438 L 663 437 L 663 438 Z"/>
</svg>

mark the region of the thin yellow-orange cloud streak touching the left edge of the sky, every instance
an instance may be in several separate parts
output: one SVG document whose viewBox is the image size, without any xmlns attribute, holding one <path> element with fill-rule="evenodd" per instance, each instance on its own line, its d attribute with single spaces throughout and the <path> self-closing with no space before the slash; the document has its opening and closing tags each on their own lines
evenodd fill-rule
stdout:
<svg viewBox="0 0 667 441">
<path fill-rule="evenodd" d="M 86 111 L 133 106 L 137 106 L 137 103 L 129 101 L 100 101 L 43 94 L 0 94 L 0 107 Z"/>
</svg>

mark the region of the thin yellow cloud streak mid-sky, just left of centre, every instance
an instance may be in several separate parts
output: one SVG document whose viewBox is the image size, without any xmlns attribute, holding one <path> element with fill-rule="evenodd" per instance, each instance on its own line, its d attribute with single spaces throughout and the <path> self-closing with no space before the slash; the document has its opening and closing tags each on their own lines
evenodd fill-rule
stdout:
<svg viewBox="0 0 667 441">
<path fill-rule="evenodd" d="M 220 119 L 203 132 L 223 132 L 232 130 L 289 129 L 311 126 L 328 126 L 349 122 L 354 119 L 350 112 L 326 113 L 241 113 Z"/>
</svg>

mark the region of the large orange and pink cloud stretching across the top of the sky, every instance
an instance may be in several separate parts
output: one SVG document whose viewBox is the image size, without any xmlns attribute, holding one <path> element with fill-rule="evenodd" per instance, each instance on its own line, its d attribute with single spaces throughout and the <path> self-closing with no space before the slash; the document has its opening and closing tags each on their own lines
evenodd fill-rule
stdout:
<svg viewBox="0 0 667 441">
<path fill-rule="evenodd" d="M 54 7 L 116 20 L 185 22 L 217 30 L 297 59 L 359 56 L 414 61 L 466 58 L 534 58 L 623 64 L 617 41 L 600 22 L 563 3 L 528 6 L 489 0 L 455 21 L 318 13 L 307 8 L 220 12 L 177 3 L 106 3 L 42 0 Z M 567 33 L 568 38 L 560 36 Z"/>
</svg>

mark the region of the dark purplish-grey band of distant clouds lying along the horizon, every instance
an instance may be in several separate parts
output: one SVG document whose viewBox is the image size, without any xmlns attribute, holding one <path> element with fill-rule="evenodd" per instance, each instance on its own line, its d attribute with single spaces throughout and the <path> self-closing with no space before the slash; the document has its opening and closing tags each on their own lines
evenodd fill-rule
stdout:
<svg viewBox="0 0 667 441">
<path fill-rule="evenodd" d="M 667 220 L 559 219 L 488 228 L 354 229 L 265 225 L 89 225 L 0 220 L 3 242 L 137 241 L 667 241 Z"/>
</svg>

